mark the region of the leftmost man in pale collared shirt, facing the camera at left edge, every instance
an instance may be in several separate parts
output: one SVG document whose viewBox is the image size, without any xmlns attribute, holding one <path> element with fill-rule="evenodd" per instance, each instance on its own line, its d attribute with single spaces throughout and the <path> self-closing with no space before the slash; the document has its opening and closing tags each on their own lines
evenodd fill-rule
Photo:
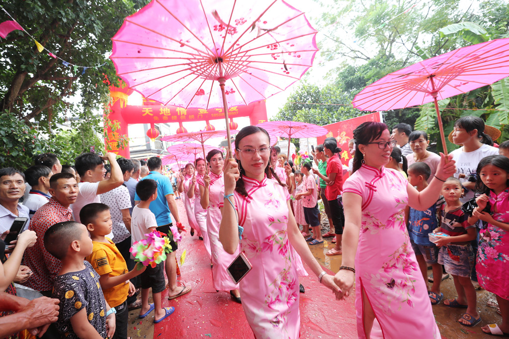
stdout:
<svg viewBox="0 0 509 339">
<path fill-rule="evenodd" d="M 19 204 L 19 199 L 24 192 L 25 176 L 23 172 L 13 167 L 0 169 L 0 234 L 9 231 L 16 218 L 30 219 L 29 208 Z"/>
</svg>

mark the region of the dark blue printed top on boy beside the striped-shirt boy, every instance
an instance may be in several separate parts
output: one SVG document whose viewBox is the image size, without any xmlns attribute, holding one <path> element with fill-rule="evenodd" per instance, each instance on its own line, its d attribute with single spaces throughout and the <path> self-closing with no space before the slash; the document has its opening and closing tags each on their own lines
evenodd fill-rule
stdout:
<svg viewBox="0 0 509 339">
<path fill-rule="evenodd" d="M 435 245 L 430 241 L 428 234 L 438 227 L 437 211 L 440 210 L 442 204 L 443 199 L 440 198 L 436 204 L 426 211 L 418 211 L 410 207 L 410 213 L 408 215 L 408 235 L 415 244 L 426 246 Z"/>
</svg>

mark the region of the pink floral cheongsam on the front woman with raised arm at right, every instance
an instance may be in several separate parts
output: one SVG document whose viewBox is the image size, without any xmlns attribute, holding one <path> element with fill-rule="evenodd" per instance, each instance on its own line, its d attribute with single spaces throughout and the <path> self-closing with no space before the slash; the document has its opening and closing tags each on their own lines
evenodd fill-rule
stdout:
<svg viewBox="0 0 509 339">
<path fill-rule="evenodd" d="M 440 338 L 426 284 L 405 224 L 408 181 L 397 171 L 363 164 L 343 185 L 362 197 L 355 256 L 357 335 L 365 338 L 362 293 L 373 307 L 372 338 Z M 376 324 L 378 321 L 378 324 Z"/>
</svg>

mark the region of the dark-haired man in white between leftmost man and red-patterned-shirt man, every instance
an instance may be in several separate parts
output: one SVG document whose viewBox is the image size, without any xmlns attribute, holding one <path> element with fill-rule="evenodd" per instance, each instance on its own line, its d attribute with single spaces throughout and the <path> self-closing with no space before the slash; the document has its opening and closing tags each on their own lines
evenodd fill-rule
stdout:
<svg viewBox="0 0 509 339">
<path fill-rule="evenodd" d="M 43 165 L 31 166 L 25 171 L 25 180 L 32 188 L 29 196 L 23 201 L 23 205 L 29 208 L 30 218 L 51 199 L 49 179 L 52 175 L 49 167 Z"/>
</svg>

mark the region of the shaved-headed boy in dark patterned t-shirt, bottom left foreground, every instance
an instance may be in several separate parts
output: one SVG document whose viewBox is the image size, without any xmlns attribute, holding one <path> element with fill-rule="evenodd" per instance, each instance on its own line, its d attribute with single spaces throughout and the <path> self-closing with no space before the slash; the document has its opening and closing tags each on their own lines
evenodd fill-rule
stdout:
<svg viewBox="0 0 509 339">
<path fill-rule="evenodd" d="M 56 327 L 61 336 L 111 337 L 115 333 L 115 308 L 106 303 L 98 275 L 83 260 L 93 247 L 85 225 L 75 221 L 55 223 L 44 234 L 44 247 L 62 261 L 52 294 L 60 300 Z"/>
</svg>

